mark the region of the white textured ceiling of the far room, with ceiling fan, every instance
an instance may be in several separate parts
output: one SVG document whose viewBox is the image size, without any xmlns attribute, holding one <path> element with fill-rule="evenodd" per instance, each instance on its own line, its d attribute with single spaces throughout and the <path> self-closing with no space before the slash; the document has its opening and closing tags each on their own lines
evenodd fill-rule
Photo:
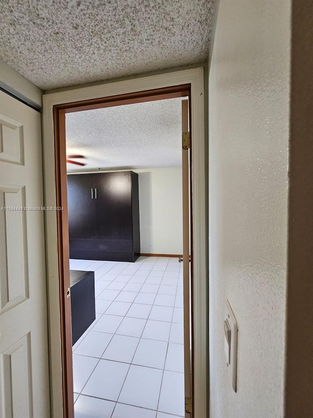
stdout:
<svg viewBox="0 0 313 418">
<path fill-rule="evenodd" d="M 181 98 L 66 114 L 68 172 L 181 166 Z"/>
</svg>

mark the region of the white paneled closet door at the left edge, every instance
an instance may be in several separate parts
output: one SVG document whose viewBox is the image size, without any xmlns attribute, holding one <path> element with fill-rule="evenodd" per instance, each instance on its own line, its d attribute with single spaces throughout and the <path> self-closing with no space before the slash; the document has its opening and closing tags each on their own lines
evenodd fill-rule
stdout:
<svg viewBox="0 0 313 418">
<path fill-rule="evenodd" d="M 0 418 L 50 417 L 41 115 L 0 91 Z"/>
</svg>

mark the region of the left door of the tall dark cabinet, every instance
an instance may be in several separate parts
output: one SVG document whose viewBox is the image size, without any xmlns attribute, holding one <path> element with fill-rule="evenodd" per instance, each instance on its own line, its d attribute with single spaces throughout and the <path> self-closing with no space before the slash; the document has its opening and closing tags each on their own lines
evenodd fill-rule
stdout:
<svg viewBox="0 0 313 418">
<path fill-rule="evenodd" d="M 67 176 L 69 239 L 96 238 L 93 174 Z"/>
</svg>

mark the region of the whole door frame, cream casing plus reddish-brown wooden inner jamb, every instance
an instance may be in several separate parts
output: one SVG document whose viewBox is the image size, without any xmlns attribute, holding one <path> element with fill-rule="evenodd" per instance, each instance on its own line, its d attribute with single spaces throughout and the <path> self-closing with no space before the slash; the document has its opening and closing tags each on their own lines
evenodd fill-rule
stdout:
<svg viewBox="0 0 313 418">
<path fill-rule="evenodd" d="M 206 416 L 208 370 L 203 68 L 77 88 L 43 96 L 45 206 L 67 208 L 65 113 L 181 97 L 190 86 L 193 164 L 194 418 Z M 153 92 L 152 92 L 153 90 Z M 175 96 L 176 95 L 176 96 Z M 121 102 L 122 99 L 122 102 Z M 91 100 L 91 101 L 90 101 Z M 63 142 L 62 142 L 63 141 Z M 46 212 L 51 417 L 73 417 L 67 211 Z"/>
</svg>

